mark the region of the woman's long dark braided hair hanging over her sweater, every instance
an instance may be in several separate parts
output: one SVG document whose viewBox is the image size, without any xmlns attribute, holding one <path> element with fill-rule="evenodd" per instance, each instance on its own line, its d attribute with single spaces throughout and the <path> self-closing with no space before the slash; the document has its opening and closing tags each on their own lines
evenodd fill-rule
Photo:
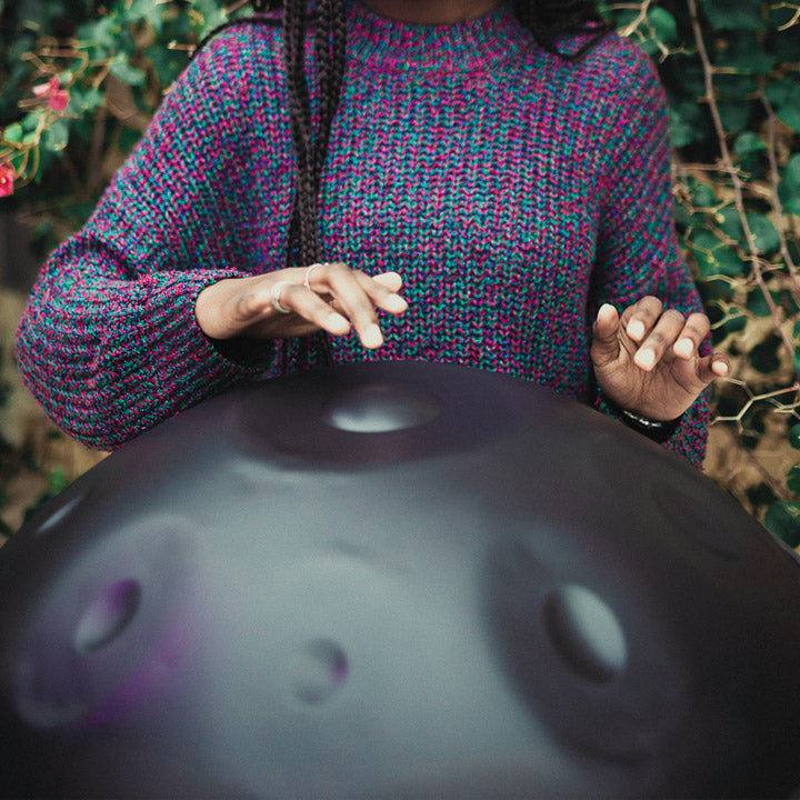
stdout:
<svg viewBox="0 0 800 800">
<path fill-rule="evenodd" d="M 328 156 L 331 124 L 339 106 L 344 74 L 347 0 L 250 0 L 253 14 L 233 18 L 208 33 L 192 59 L 220 31 L 234 24 L 282 24 L 284 69 L 289 92 L 292 147 L 296 157 L 294 200 L 287 242 L 287 267 L 302 267 L 321 260 L 319 232 L 319 191 Z M 611 24 L 598 16 L 592 0 L 512 0 L 514 16 L 548 52 L 568 61 L 580 60 Z M 247 3 L 243 3 L 247 4 Z M 319 123 L 312 130 L 309 83 L 306 73 L 304 42 L 308 20 L 316 20 L 314 52 L 320 97 Z M 558 49 L 564 33 L 586 32 L 581 47 L 571 53 Z M 306 361 L 313 361 L 313 341 L 322 361 L 331 366 L 330 341 L 324 331 L 309 338 Z"/>
</svg>

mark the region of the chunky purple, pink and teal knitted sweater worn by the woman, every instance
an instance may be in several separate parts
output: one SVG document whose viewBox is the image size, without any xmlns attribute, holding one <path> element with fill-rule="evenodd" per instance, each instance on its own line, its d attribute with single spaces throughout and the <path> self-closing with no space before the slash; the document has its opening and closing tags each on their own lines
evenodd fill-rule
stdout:
<svg viewBox="0 0 800 800">
<path fill-rule="evenodd" d="M 510 4 L 408 24 L 349 0 L 322 177 L 322 258 L 404 280 L 386 343 L 336 361 L 447 361 L 602 407 L 589 347 L 602 302 L 700 302 L 673 232 L 662 90 L 608 36 L 579 63 L 541 49 Z M 18 362 L 66 431 L 114 448 L 242 381 L 298 366 L 286 342 L 220 347 L 207 286 L 286 262 L 293 163 L 280 26 L 218 36 L 162 102 L 86 227 L 46 263 Z M 579 38 L 564 38 L 562 48 Z M 307 42 L 314 69 L 312 39 Z M 318 108 L 312 92 L 312 112 Z M 667 446 L 700 464 L 704 399 Z"/>
</svg>

